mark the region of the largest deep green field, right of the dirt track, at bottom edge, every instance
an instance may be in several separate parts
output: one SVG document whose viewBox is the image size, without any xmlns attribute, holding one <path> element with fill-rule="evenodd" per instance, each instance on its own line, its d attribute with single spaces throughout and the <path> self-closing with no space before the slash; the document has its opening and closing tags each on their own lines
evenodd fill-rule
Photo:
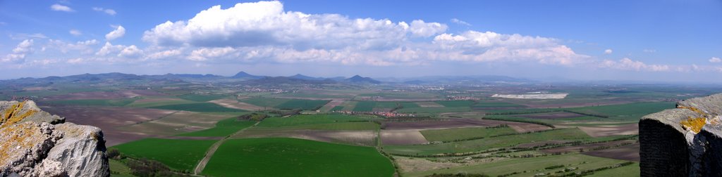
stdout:
<svg viewBox="0 0 722 177">
<path fill-rule="evenodd" d="M 392 176 L 374 148 L 293 138 L 227 140 L 208 162 L 207 176 Z"/>
</svg>

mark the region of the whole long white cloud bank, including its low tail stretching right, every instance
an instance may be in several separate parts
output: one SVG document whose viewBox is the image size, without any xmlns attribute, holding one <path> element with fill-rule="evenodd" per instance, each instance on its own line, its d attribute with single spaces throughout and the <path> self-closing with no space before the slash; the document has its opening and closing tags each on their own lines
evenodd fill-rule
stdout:
<svg viewBox="0 0 722 177">
<path fill-rule="evenodd" d="M 421 19 L 350 19 L 341 14 L 284 11 L 279 1 L 212 6 L 195 17 L 158 24 L 142 40 L 155 47 L 191 48 L 187 60 L 265 60 L 344 65 L 533 61 L 570 65 L 588 58 L 558 40 L 518 34 L 467 31 Z"/>
</svg>

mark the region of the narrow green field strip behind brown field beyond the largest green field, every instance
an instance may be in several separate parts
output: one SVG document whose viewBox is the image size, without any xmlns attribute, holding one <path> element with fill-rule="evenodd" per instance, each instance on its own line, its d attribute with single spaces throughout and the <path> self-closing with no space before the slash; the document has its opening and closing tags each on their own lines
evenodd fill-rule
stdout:
<svg viewBox="0 0 722 177">
<path fill-rule="evenodd" d="M 364 121 L 370 120 L 363 117 L 355 117 L 344 114 L 301 114 L 291 117 L 271 117 L 264 119 L 258 127 L 283 127 L 305 124 L 329 124 L 336 122 Z"/>
</svg>

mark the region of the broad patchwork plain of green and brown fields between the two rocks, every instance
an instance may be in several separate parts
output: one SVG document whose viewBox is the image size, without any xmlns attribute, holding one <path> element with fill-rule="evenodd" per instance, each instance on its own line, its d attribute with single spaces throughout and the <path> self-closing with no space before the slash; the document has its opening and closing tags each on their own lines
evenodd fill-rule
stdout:
<svg viewBox="0 0 722 177">
<path fill-rule="evenodd" d="M 102 128 L 106 145 L 126 155 L 110 160 L 117 172 L 113 176 L 132 176 L 127 162 L 143 158 L 190 175 L 209 152 L 214 153 L 205 158 L 209 161 L 200 176 L 562 176 L 580 171 L 638 176 L 640 117 L 674 107 L 674 99 L 706 93 L 541 89 L 569 93 L 549 100 L 489 97 L 545 88 L 534 86 L 448 91 L 397 85 L 271 86 L 290 87 L 283 93 L 243 90 L 249 86 L 235 83 L 151 87 L 27 87 L 2 94 L 42 92 L 38 105 L 43 110 Z M 453 98 L 447 96 L 473 101 L 449 101 Z M 239 118 L 245 114 L 268 117 Z"/>
</svg>

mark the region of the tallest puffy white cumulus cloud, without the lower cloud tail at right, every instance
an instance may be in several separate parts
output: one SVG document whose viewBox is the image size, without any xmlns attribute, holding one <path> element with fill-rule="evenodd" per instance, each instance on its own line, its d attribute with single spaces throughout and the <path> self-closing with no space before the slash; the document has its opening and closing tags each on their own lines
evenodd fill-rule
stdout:
<svg viewBox="0 0 722 177">
<path fill-rule="evenodd" d="M 187 21 L 165 22 L 146 31 L 142 39 L 155 45 L 196 47 L 288 46 L 298 50 L 385 50 L 398 47 L 408 35 L 433 35 L 444 24 L 388 19 L 349 19 L 341 14 L 284 12 L 279 1 L 239 3 L 228 9 L 213 6 Z M 413 31 L 411 30 L 413 29 Z"/>
</svg>

